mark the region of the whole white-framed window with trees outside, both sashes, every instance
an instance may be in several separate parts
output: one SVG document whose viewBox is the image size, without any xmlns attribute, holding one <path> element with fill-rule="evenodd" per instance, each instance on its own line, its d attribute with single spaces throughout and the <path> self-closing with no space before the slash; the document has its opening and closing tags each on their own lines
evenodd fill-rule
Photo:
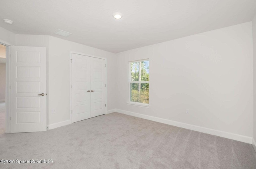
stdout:
<svg viewBox="0 0 256 169">
<path fill-rule="evenodd" d="M 129 103 L 149 105 L 149 60 L 129 63 Z"/>
</svg>

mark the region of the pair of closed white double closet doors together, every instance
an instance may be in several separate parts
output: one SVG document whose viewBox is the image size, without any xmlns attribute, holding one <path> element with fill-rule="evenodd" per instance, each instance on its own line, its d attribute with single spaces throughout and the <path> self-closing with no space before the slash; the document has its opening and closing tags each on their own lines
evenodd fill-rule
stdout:
<svg viewBox="0 0 256 169">
<path fill-rule="evenodd" d="M 106 113 L 106 60 L 71 53 L 72 123 Z"/>
</svg>

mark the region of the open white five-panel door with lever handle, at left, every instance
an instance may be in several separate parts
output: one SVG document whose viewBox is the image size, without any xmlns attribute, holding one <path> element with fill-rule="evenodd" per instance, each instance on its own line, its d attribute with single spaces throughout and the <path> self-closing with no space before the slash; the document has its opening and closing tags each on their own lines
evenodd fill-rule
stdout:
<svg viewBox="0 0 256 169">
<path fill-rule="evenodd" d="M 10 54 L 10 132 L 46 131 L 46 48 L 11 46 Z"/>
</svg>

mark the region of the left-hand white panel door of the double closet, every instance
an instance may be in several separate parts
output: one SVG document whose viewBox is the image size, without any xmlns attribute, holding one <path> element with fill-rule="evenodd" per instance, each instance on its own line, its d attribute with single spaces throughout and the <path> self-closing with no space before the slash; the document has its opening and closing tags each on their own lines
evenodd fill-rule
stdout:
<svg viewBox="0 0 256 169">
<path fill-rule="evenodd" d="M 91 117 L 90 57 L 72 54 L 72 123 Z"/>
</svg>

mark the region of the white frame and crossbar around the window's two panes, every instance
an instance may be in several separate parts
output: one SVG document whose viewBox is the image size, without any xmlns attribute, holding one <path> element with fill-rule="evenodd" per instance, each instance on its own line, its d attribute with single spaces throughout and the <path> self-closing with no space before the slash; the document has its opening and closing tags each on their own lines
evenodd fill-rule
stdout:
<svg viewBox="0 0 256 169">
<path fill-rule="evenodd" d="M 135 102 L 135 101 L 131 101 L 131 83 L 150 83 L 149 81 L 131 81 L 131 64 L 134 62 L 142 62 L 142 61 L 149 61 L 149 65 L 150 65 L 150 60 L 149 59 L 143 59 L 143 60 L 134 60 L 134 61 L 130 61 L 128 62 L 128 105 L 135 105 L 135 106 L 139 106 L 139 107 L 150 107 L 149 103 L 150 103 L 150 89 L 148 90 L 148 103 L 140 103 L 140 102 Z M 149 75 L 150 76 L 150 75 Z M 149 85 L 150 86 L 150 85 Z"/>
</svg>

